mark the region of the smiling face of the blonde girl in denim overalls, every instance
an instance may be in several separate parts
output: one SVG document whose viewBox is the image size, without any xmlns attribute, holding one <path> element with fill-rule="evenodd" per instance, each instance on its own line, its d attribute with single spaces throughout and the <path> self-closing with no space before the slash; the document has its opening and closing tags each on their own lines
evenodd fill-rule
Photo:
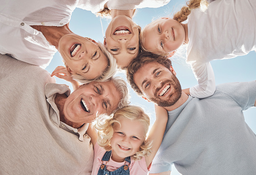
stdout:
<svg viewBox="0 0 256 175">
<path fill-rule="evenodd" d="M 140 145 L 146 137 L 146 131 L 141 122 L 120 118 L 113 126 L 114 134 L 110 144 L 112 147 L 112 159 L 116 162 L 124 161 L 125 157 L 134 155 L 139 151 Z"/>
</svg>

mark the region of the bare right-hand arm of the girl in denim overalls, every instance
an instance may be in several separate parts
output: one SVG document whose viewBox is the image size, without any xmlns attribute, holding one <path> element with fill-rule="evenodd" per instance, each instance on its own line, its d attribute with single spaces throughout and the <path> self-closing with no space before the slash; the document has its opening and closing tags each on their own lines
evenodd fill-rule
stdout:
<svg viewBox="0 0 256 175">
<path fill-rule="evenodd" d="M 151 154 L 145 157 L 147 167 L 150 165 L 153 158 L 157 154 L 157 151 L 163 140 L 164 131 L 168 121 L 168 114 L 165 108 L 155 105 L 155 110 L 156 110 L 156 121 L 153 124 L 152 128 L 150 129 L 149 135 L 148 135 L 148 141 L 152 141 L 153 144 L 151 147 L 151 151 L 152 151 Z"/>
</svg>

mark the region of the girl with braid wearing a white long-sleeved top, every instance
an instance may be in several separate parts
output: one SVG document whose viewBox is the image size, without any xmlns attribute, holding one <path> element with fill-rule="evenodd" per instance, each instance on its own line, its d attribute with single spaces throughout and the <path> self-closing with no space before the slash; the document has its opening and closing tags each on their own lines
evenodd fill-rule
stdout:
<svg viewBox="0 0 256 175">
<path fill-rule="evenodd" d="M 215 92 L 210 61 L 256 50 L 255 21 L 255 0 L 190 0 L 173 19 L 160 18 L 145 26 L 140 44 L 143 50 L 167 56 L 187 44 L 187 63 L 198 85 L 184 91 L 205 98 Z"/>
</svg>

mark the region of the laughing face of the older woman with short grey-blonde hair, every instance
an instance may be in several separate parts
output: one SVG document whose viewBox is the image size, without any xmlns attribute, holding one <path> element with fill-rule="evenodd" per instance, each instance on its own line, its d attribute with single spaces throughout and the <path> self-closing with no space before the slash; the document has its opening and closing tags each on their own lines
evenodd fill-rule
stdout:
<svg viewBox="0 0 256 175">
<path fill-rule="evenodd" d="M 58 50 L 71 73 L 88 80 L 98 77 L 107 68 L 107 57 L 94 40 L 68 34 L 60 39 Z"/>
</svg>

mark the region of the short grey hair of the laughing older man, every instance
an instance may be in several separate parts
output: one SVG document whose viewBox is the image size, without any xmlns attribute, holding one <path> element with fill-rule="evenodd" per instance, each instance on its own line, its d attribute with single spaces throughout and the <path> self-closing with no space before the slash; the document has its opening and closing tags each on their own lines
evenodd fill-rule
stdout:
<svg viewBox="0 0 256 175">
<path fill-rule="evenodd" d="M 130 104 L 130 101 L 129 101 L 130 95 L 129 95 L 129 90 L 127 88 L 127 84 L 124 81 L 124 79 L 122 77 L 115 76 L 115 77 L 111 77 L 110 80 L 112 80 L 112 82 L 116 86 L 116 89 L 119 92 L 119 95 L 121 97 L 116 110 L 129 105 Z"/>
</svg>

